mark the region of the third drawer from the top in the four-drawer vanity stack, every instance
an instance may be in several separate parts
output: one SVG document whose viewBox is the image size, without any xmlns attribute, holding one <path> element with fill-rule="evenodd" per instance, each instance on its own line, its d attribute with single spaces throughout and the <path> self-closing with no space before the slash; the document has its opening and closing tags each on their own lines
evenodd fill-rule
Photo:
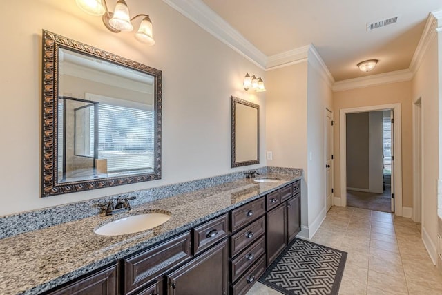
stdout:
<svg viewBox="0 0 442 295">
<path fill-rule="evenodd" d="M 265 254 L 265 236 L 262 236 L 259 240 L 254 242 L 253 245 L 242 251 L 238 257 L 232 260 L 231 281 L 234 282 L 239 278 L 250 265 L 260 258 L 262 254 Z"/>
</svg>

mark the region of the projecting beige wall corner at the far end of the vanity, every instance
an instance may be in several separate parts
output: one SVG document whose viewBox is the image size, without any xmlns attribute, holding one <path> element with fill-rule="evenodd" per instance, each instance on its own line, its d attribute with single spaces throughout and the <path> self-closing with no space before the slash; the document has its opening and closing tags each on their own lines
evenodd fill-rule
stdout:
<svg viewBox="0 0 442 295">
<path fill-rule="evenodd" d="M 308 238 L 325 217 L 325 108 L 332 110 L 332 90 L 316 57 L 266 78 L 267 151 L 273 152 L 267 164 L 304 169 L 301 234 Z"/>
</svg>

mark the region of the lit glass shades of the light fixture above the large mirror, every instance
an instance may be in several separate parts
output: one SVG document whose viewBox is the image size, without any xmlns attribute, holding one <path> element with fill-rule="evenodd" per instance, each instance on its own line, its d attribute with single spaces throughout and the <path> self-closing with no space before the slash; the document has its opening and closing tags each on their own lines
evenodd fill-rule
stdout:
<svg viewBox="0 0 442 295">
<path fill-rule="evenodd" d="M 129 17 L 129 8 L 124 0 L 118 0 L 114 12 L 108 10 L 106 0 L 75 0 L 79 8 L 89 15 L 102 15 L 103 23 L 111 32 L 131 32 L 132 21 L 137 17 L 144 17 L 140 23 L 135 38 L 148 45 L 155 44 L 152 34 L 152 21 L 148 15 L 140 14 Z"/>
</svg>

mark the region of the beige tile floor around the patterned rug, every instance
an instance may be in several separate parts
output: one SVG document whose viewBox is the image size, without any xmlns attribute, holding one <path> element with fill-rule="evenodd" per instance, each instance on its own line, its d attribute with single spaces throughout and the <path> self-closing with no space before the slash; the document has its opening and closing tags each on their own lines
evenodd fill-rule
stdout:
<svg viewBox="0 0 442 295">
<path fill-rule="evenodd" d="M 311 239 L 346 251 L 339 294 L 442 294 L 442 275 L 410 218 L 353 207 L 332 207 Z M 256 283 L 247 295 L 278 295 Z"/>
</svg>

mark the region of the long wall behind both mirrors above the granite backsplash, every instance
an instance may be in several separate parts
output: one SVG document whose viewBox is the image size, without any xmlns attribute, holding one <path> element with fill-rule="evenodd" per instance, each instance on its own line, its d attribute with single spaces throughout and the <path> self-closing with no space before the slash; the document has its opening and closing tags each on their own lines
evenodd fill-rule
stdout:
<svg viewBox="0 0 442 295">
<path fill-rule="evenodd" d="M 163 1 L 128 4 L 151 16 L 154 46 L 109 32 L 75 1 L 3 3 L 0 216 L 265 166 L 265 93 L 242 89 L 246 72 L 265 78 L 264 70 Z M 40 197 L 41 29 L 162 70 L 162 180 Z M 231 95 L 260 104 L 259 165 L 230 168 Z"/>
</svg>

